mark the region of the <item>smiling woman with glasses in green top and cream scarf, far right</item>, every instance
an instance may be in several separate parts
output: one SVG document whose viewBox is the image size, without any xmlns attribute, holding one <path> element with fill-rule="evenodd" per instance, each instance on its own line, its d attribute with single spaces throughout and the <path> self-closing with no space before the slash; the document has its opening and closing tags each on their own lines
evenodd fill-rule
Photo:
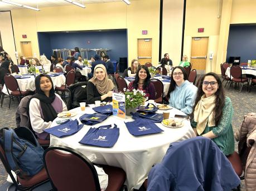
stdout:
<svg viewBox="0 0 256 191">
<path fill-rule="evenodd" d="M 193 113 L 191 126 L 196 135 L 212 139 L 225 155 L 232 154 L 235 149 L 233 107 L 217 74 L 210 72 L 201 78 Z"/>
</svg>

